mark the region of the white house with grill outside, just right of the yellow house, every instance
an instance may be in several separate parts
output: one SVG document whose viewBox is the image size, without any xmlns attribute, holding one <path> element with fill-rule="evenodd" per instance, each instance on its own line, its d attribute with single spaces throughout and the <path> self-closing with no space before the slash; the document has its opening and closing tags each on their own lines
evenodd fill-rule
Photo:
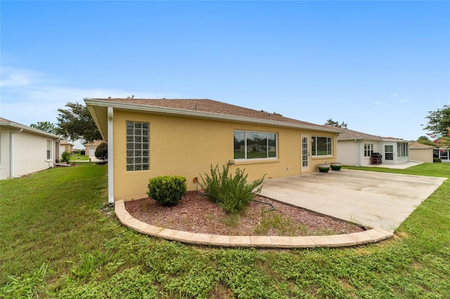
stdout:
<svg viewBox="0 0 450 299">
<path fill-rule="evenodd" d="M 338 135 L 338 161 L 344 165 L 368 166 L 373 153 L 381 154 L 380 163 L 409 161 L 409 141 L 370 135 L 345 129 Z"/>
</svg>

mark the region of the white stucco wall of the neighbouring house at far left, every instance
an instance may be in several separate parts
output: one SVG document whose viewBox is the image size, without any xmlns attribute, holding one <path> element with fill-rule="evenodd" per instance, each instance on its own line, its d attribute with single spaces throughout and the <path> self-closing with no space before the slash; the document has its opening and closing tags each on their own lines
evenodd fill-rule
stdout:
<svg viewBox="0 0 450 299">
<path fill-rule="evenodd" d="M 17 131 L 17 130 L 15 130 Z M 12 175 L 20 176 L 27 173 L 42 171 L 49 168 L 47 159 L 47 139 L 44 136 L 26 131 L 14 133 L 13 136 L 13 171 L 10 173 L 10 131 L 1 131 L 1 179 L 11 178 Z M 51 146 L 51 162 L 53 166 L 55 142 Z"/>
</svg>

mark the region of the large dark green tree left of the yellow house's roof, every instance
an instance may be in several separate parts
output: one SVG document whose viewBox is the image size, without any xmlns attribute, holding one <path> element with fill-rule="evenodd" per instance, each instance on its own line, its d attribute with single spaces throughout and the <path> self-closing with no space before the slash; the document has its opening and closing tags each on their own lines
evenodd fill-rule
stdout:
<svg viewBox="0 0 450 299">
<path fill-rule="evenodd" d="M 101 140 L 100 131 L 86 106 L 68 102 L 65 107 L 68 109 L 58 109 L 56 133 L 70 140 L 82 140 L 83 143 Z"/>
</svg>

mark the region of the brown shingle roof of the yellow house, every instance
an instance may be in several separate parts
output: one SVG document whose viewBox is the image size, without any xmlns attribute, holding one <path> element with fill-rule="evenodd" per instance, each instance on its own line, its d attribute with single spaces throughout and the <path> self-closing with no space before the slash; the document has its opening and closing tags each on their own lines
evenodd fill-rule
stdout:
<svg viewBox="0 0 450 299">
<path fill-rule="evenodd" d="M 246 117 L 251 119 L 262 119 L 266 121 L 280 121 L 288 124 L 298 124 L 303 126 L 314 126 L 317 128 L 330 130 L 329 126 L 311 124 L 306 121 L 290 119 L 279 114 L 264 112 L 262 110 L 249 109 L 236 105 L 227 104 L 210 99 L 138 99 L 138 98 L 94 98 L 91 100 L 104 100 L 131 105 L 143 105 L 148 107 L 164 107 L 169 109 L 182 109 L 192 112 L 205 112 L 211 114 L 222 114 L 236 117 Z M 333 131 L 339 131 L 333 128 Z"/>
</svg>

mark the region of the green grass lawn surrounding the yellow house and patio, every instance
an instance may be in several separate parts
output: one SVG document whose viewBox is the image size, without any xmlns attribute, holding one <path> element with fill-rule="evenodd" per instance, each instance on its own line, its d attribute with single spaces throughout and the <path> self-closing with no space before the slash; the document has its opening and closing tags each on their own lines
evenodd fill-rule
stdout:
<svg viewBox="0 0 450 299">
<path fill-rule="evenodd" d="M 450 177 L 450 164 L 359 169 Z M 0 182 L 0 298 L 449 298 L 450 180 L 390 241 L 257 251 L 123 227 L 106 173 L 87 164 Z"/>
</svg>

